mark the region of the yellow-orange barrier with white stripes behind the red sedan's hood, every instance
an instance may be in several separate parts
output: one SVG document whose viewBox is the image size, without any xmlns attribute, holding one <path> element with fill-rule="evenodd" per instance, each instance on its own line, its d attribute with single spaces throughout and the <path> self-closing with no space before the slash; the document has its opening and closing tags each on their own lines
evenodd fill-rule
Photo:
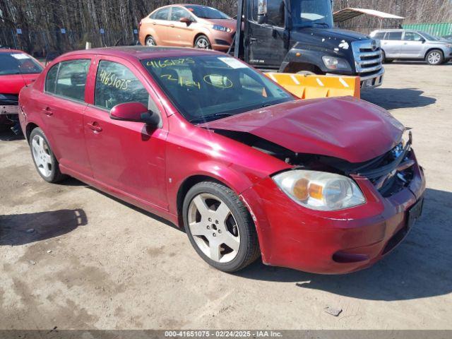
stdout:
<svg viewBox="0 0 452 339">
<path fill-rule="evenodd" d="M 305 76 L 273 72 L 266 73 L 266 76 L 300 99 L 361 96 L 359 76 Z"/>
</svg>

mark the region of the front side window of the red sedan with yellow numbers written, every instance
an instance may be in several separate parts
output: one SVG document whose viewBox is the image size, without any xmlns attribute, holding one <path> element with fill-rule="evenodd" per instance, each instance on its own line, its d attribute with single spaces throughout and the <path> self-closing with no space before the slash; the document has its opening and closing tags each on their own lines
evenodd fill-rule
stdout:
<svg viewBox="0 0 452 339">
<path fill-rule="evenodd" d="M 141 81 L 123 64 L 102 60 L 97 69 L 94 105 L 112 109 L 124 102 L 141 102 L 145 107 L 155 109 L 148 91 Z"/>
</svg>

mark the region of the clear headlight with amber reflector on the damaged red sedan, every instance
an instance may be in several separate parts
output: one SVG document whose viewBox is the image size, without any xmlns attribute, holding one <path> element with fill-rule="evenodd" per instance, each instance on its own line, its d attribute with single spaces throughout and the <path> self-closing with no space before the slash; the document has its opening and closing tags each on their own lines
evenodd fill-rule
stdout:
<svg viewBox="0 0 452 339">
<path fill-rule="evenodd" d="M 293 201 L 311 210 L 343 210 L 366 202 L 357 184 L 340 174 L 294 169 L 276 174 L 273 181 Z"/>
</svg>

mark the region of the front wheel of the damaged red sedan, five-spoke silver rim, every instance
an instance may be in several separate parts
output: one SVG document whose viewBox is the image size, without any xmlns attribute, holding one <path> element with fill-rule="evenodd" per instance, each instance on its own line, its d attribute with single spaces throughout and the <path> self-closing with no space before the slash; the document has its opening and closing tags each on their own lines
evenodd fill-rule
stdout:
<svg viewBox="0 0 452 339">
<path fill-rule="evenodd" d="M 216 182 L 193 186 L 184 198 L 184 227 L 210 266 L 235 272 L 260 255 L 256 227 L 239 197 Z"/>
</svg>

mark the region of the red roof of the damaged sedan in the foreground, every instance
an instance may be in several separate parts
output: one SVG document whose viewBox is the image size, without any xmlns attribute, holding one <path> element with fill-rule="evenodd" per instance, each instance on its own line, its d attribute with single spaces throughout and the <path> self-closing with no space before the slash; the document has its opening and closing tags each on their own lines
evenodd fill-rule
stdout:
<svg viewBox="0 0 452 339">
<path fill-rule="evenodd" d="M 196 57 L 200 55 L 224 55 L 206 49 L 194 49 L 187 47 L 148 47 L 148 46 L 124 46 L 103 47 L 93 49 L 81 49 L 61 55 L 58 59 L 74 55 L 105 55 L 111 57 L 122 57 L 129 60 L 143 60 L 162 57 Z"/>
</svg>

